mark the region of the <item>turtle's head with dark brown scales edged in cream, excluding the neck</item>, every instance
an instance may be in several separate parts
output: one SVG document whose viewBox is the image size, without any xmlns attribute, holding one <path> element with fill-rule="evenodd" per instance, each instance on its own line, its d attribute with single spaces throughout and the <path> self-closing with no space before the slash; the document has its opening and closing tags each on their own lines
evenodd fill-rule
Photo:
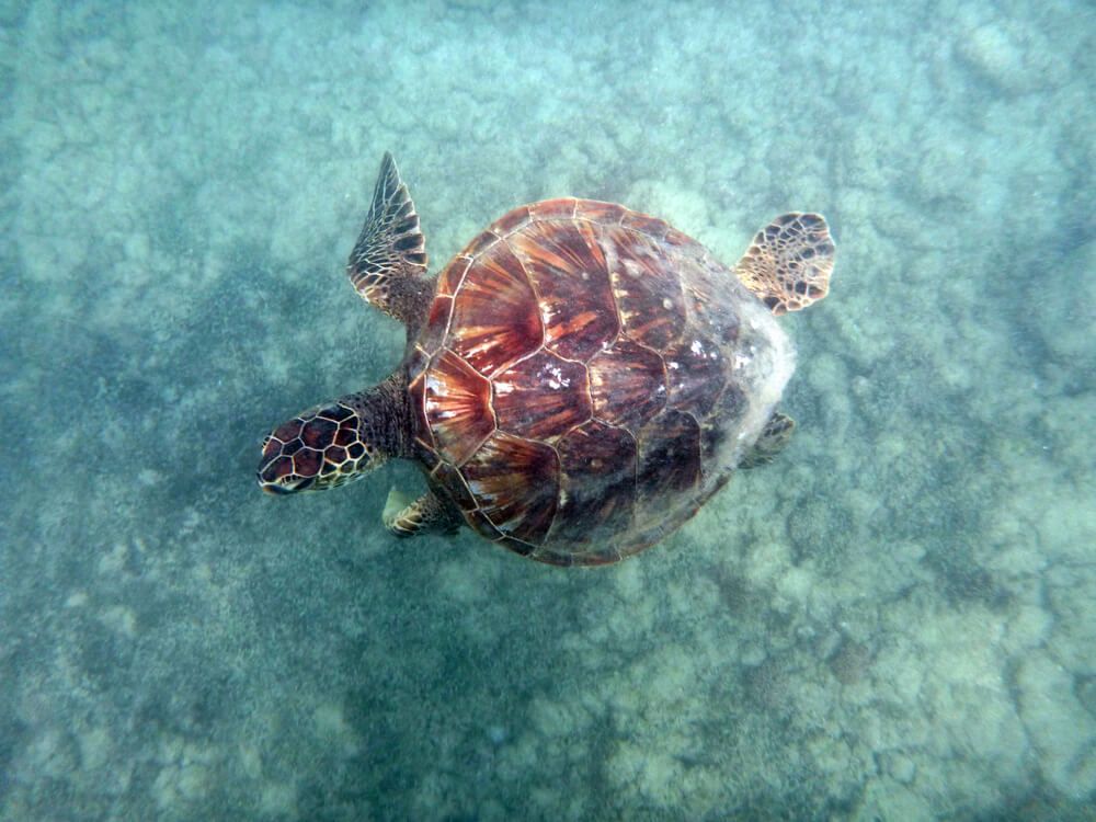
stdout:
<svg viewBox="0 0 1096 822">
<path fill-rule="evenodd" d="M 368 431 L 354 398 L 300 412 L 263 441 L 259 487 L 271 494 L 322 491 L 365 476 L 385 461 Z"/>
</svg>

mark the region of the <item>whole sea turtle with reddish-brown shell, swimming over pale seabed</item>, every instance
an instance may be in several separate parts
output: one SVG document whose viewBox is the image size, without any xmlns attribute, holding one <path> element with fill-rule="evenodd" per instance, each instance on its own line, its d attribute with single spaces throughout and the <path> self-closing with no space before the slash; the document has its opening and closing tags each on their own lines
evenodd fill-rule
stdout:
<svg viewBox="0 0 1096 822">
<path fill-rule="evenodd" d="M 785 214 L 732 271 L 660 219 L 568 197 L 509 212 L 430 277 L 386 153 L 347 273 L 407 326 L 403 361 L 276 427 L 259 484 L 334 488 L 402 457 L 429 490 L 389 494 L 396 535 L 469 525 L 541 562 L 615 562 L 787 443 L 795 350 L 774 315 L 826 295 L 833 254 L 821 216 Z"/>
</svg>

